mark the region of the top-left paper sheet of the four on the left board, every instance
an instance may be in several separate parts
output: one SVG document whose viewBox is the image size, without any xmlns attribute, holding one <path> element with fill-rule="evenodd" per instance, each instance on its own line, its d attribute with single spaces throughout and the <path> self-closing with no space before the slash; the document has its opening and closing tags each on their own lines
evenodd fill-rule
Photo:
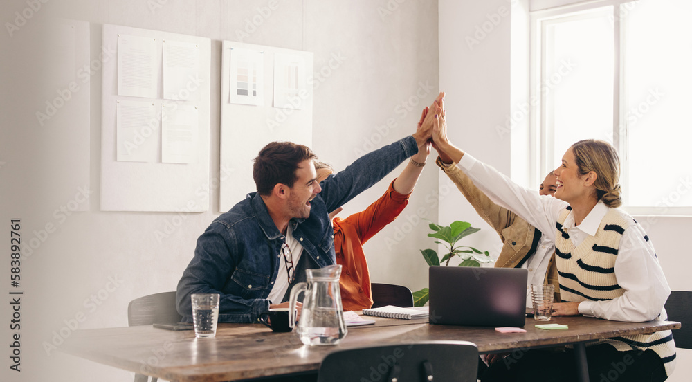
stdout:
<svg viewBox="0 0 692 382">
<path fill-rule="evenodd" d="M 118 96 L 156 98 L 158 60 L 151 37 L 118 36 Z"/>
</svg>

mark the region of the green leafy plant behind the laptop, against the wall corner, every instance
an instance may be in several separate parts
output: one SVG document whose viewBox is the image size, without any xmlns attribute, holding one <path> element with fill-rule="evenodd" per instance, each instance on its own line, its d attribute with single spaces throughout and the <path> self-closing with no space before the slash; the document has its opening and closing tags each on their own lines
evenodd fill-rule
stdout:
<svg viewBox="0 0 692 382">
<path fill-rule="evenodd" d="M 428 233 L 428 236 L 435 237 L 435 239 L 437 239 L 435 240 L 435 243 L 444 244 L 448 252 L 440 259 L 437 255 L 437 251 L 434 249 L 421 249 L 423 258 L 428 263 L 428 266 L 440 265 L 441 263 L 448 266 L 449 260 L 455 256 L 462 258 L 462 262 L 459 263 L 459 266 L 480 266 L 481 263 L 493 261 L 488 251 L 480 251 L 479 249 L 471 246 L 457 246 L 457 242 L 459 242 L 462 237 L 466 237 L 472 233 L 477 233 L 480 231 L 480 228 L 473 228 L 471 223 L 457 220 L 449 226 L 439 226 L 438 224 L 430 221 L 429 227 L 433 232 Z M 422 307 L 426 304 L 426 302 L 428 302 L 429 297 L 428 288 L 416 291 L 413 293 L 414 306 Z"/>
</svg>

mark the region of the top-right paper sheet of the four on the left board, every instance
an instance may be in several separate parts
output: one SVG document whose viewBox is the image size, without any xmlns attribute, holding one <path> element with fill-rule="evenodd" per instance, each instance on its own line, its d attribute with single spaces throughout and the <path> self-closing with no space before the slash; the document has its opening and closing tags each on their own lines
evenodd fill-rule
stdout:
<svg viewBox="0 0 692 382">
<path fill-rule="evenodd" d="M 191 42 L 163 42 L 163 98 L 199 100 L 199 47 Z"/>
</svg>

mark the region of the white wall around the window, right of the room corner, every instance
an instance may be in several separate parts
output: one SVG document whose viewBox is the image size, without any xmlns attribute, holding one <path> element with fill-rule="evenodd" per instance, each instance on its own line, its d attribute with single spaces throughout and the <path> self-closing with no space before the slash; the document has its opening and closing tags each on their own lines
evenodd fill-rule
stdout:
<svg viewBox="0 0 692 382">
<path fill-rule="evenodd" d="M 525 21 L 514 19 L 516 13 L 526 15 L 526 1 L 517 3 L 512 22 L 523 24 Z M 515 84 L 523 84 L 521 78 L 510 78 L 521 75 L 511 71 L 512 60 L 522 60 L 521 55 L 511 53 L 512 40 L 525 37 L 522 28 L 511 25 L 510 17 L 502 17 L 499 24 L 486 29 L 490 32 L 478 33 L 484 23 L 497 19 L 501 7 L 509 8 L 509 0 L 488 1 L 439 1 L 439 54 L 440 54 L 440 89 L 446 91 L 445 98 L 447 120 L 450 126 L 450 139 L 466 149 L 476 158 L 490 163 L 495 168 L 515 176 L 517 165 L 512 161 L 509 150 L 509 136 L 496 134 L 496 125 L 504 126 L 513 105 L 518 104 L 518 96 L 511 89 Z M 476 39 L 479 44 L 470 47 L 466 38 Z M 477 37 L 483 37 L 478 39 Z M 473 43 L 473 42 L 472 42 Z M 521 42 L 520 42 L 521 44 Z M 520 65 L 523 62 L 519 62 Z M 664 142 L 651 143 L 664 144 Z M 655 160 L 655 158 L 652 158 Z M 525 165 L 525 162 L 520 162 Z M 670 165 L 669 163 L 662 163 Z M 517 172 L 521 174 L 522 172 Z M 524 178 L 517 181 L 525 181 Z M 473 235 L 472 242 L 478 248 L 493 248 L 497 255 L 500 250 L 498 238 L 491 233 L 487 224 L 482 221 L 455 192 L 453 185 L 448 185 L 446 176 L 440 176 L 440 192 L 451 188 L 450 195 L 441 201 L 440 221 L 462 219 L 471 221 L 474 226 L 482 228 Z M 644 226 L 652 239 L 659 260 L 662 264 L 668 284 L 673 290 L 692 290 L 692 278 L 689 269 L 692 257 L 682 243 L 682 238 L 692 230 L 692 217 L 635 217 Z M 484 233 L 485 235 L 482 235 Z M 479 237 L 480 236 L 480 237 Z M 469 237 L 471 238 L 471 237 Z M 692 372 L 692 351 L 680 350 L 677 358 L 677 371 L 668 381 L 686 381 Z"/>
</svg>

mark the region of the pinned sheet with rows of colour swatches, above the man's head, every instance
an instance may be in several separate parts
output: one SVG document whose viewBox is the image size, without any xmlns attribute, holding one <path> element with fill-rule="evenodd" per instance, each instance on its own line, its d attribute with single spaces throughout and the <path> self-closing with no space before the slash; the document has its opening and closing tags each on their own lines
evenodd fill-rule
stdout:
<svg viewBox="0 0 692 382">
<path fill-rule="evenodd" d="M 229 103 L 264 106 L 264 54 L 231 48 Z"/>
</svg>

